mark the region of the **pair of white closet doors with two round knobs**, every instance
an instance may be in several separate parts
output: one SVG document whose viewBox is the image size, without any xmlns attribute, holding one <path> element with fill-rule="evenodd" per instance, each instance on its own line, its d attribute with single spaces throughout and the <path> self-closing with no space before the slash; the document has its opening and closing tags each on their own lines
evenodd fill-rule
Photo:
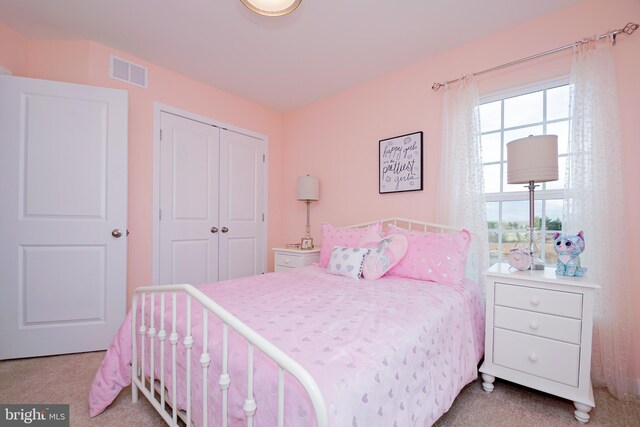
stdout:
<svg viewBox="0 0 640 427">
<path fill-rule="evenodd" d="M 160 116 L 159 283 L 264 272 L 264 142 Z"/>
</svg>

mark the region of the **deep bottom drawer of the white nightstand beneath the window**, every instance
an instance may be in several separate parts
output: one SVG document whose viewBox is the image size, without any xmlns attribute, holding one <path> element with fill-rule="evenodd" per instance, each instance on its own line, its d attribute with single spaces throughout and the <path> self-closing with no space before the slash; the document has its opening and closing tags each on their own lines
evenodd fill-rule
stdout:
<svg viewBox="0 0 640 427">
<path fill-rule="evenodd" d="M 493 363 L 577 387 L 580 346 L 495 328 Z"/>
</svg>

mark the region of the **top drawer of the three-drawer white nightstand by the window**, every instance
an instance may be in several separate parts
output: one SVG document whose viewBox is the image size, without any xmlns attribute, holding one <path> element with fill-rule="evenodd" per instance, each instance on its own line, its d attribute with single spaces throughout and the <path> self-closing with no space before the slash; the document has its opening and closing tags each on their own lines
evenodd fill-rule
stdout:
<svg viewBox="0 0 640 427">
<path fill-rule="evenodd" d="M 495 284 L 495 303 L 539 313 L 582 318 L 582 295 L 571 292 Z"/>
</svg>

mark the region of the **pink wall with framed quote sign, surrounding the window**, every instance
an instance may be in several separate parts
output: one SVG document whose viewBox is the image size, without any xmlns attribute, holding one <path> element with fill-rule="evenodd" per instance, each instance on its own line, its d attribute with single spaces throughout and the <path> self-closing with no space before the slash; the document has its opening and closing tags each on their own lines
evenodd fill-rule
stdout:
<svg viewBox="0 0 640 427">
<path fill-rule="evenodd" d="M 295 178 L 320 178 L 321 200 L 312 204 L 312 236 L 320 237 L 321 221 L 363 222 L 386 216 L 436 221 L 437 174 L 440 156 L 442 82 L 470 72 L 570 44 L 583 37 L 640 23 L 640 2 L 585 1 L 490 37 L 482 38 L 367 82 L 285 116 L 283 215 L 285 241 L 302 236 L 305 207 L 295 200 Z M 620 36 L 615 48 L 629 241 L 640 241 L 640 34 Z M 481 95 L 567 75 L 570 51 L 483 75 Z M 424 191 L 378 194 L 378 140 L 424 131 Z M 612 207 L 617 209 L 617 207 Z M 640 307 L 640 247 L 628 245 L 634 306 Z M 635 331 L 640 331 L 636 315 Z M 637 333 L 637 332 L 636 332 Z M 637 340 L 640 341 L 640 340 Z M 638 354 L 640 354 L 640 349 Z M 640 373 L 640 360 L 637 372 Z M 640 377 L 640 374 L 637 375 Z"/>
</svg>

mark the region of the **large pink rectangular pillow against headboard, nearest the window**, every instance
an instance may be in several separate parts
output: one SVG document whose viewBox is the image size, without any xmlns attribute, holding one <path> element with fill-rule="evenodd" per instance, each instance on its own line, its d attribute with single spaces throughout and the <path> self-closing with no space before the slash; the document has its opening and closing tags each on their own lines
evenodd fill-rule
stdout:
<svg viewBox="0 0 640 427">
<path fill-rule="evenodd" d="M 464 278 L 464 261 L 471 233 L 423 233 L 389 226 L 387 236 L 402 234 L 409 240 L 405 257 L 389 271 L 389 276 L 459 284 Z"/>
</svg>

